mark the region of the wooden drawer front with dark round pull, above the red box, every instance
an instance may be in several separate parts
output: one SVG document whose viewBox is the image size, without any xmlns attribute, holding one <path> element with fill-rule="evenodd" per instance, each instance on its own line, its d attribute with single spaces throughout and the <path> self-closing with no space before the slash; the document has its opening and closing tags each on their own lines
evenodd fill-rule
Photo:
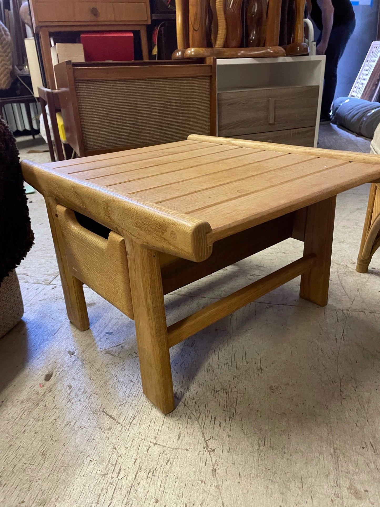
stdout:
<svg viewBox="0 0 380 507">
<path fill-rule="evenodd" d="M 144 2 L 39 2 L 40 22 L 146 21 Z"/>
</svg>

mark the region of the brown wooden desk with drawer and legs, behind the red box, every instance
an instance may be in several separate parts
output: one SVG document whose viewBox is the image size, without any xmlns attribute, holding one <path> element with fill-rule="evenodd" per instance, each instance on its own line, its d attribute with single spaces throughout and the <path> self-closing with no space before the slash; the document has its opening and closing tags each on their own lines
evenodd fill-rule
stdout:
<svg viewBox="0 0 380 507">
<path fill-rule="evenodd" d="M 143 59 L 149 59 L 146 36 L 146 25 L 150 24 L 149 0 L 30 0 L 29 4 L 34 31 L 40 38 L 47 87 L 52 90 L 55 81 L 50 52 L 51 32 L 138 30 Z"/>
</svg>

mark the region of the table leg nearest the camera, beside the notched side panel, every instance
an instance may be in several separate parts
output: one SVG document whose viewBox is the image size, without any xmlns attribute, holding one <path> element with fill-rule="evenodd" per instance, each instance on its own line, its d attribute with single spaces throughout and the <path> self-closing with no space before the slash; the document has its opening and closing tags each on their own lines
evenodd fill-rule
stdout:
<svg viewBox="0 0 380 507">
<path fill-rule="evenodd" d="M 164 414 L 174 395 L 161 269 L 157 252 L 125 237 L 142 390 Z"/>
</svg>

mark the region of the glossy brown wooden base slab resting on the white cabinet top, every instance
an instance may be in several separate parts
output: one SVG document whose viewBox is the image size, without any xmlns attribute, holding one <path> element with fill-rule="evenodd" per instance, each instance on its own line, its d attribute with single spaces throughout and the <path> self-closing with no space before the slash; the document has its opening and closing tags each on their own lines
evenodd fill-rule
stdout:
<svg viewBox="0 0 380 507">
<path fill-rule="evenodd" d="M 188 48 L 185 58 L 271 58 L 285 56 L 285 50 L 278 46 L 265 48 Z"/>
</svg>

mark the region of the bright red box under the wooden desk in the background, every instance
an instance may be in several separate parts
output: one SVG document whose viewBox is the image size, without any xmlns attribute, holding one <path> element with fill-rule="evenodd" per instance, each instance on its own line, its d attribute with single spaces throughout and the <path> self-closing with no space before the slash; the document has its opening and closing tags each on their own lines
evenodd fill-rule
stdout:
<svg viewBox="0 0 380 507">
<path fill-rule="evenodd" d="M 134 59 L 132 32 L 85 32 L 81 33 L 81 43 L 87 62 Z"/>
</svg>

